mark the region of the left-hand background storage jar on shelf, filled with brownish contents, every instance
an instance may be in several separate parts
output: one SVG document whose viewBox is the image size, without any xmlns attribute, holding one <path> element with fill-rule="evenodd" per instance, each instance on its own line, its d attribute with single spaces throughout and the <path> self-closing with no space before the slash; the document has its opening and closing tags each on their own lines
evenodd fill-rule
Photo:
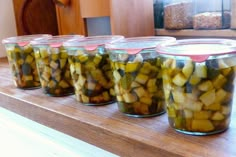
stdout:
<svg viewBox="0 0 236 157">
<path fill-rule="evenodd" d="M 164 28 L 193 28 L 193 0 L 167 0 L 164 4 Z"/>
</svg>

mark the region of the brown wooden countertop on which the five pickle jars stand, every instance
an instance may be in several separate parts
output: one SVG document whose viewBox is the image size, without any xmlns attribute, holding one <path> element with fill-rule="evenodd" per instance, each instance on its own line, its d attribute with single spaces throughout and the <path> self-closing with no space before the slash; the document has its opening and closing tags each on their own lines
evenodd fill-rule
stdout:
<svg viewBox="0 0 236 157">
<path fill-rule="evenodd" d="M 116 103 L 85 106 L 74 95 L 50 97 L 42 89 L 18 89 L 6 59 L 0 59 L 0 106 L 120 156 L 236 156 L 235 106 L 227 131 L 185 135 L 169 126 L 166 114 L 132 118 L 120 113 Z"/>
</svg>

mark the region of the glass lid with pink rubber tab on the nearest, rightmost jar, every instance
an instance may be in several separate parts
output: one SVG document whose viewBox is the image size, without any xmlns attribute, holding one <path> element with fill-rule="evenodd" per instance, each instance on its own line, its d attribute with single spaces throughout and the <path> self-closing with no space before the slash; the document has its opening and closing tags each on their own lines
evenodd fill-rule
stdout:
<svg viewBox="0 0 236 157">
<path fill-rule="evenodd" d="M 185 56 L 203 62 L 210 56 L 236 54 L 236 40 L 223 38 L 182 39 L 157 45 L 160 55 Z"/>
</svg>

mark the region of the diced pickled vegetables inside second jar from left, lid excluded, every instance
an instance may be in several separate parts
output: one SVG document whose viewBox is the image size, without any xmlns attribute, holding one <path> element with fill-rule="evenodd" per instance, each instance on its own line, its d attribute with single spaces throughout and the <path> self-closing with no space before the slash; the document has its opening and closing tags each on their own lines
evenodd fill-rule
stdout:
<svg viewBox="0 0 236 157">
<path fill-rule="evenodd" d="M 68 55 L 63 47 L 36 48 L 35 56 L 44 93 L 51 96 L 65 96 L 74 93 Z"/>
</svg>

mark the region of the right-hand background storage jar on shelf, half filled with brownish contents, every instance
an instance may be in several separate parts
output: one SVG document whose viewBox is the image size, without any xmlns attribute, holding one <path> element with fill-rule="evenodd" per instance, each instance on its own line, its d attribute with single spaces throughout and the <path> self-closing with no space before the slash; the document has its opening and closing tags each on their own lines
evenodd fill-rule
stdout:
<svg viewBox="0 0 236 157">
<path fill-rule="evenodd" d="M 194 29 L 225 29 L 230 28 L 230 0 L 196 0 L 193 16 Z"/>
</svg>

